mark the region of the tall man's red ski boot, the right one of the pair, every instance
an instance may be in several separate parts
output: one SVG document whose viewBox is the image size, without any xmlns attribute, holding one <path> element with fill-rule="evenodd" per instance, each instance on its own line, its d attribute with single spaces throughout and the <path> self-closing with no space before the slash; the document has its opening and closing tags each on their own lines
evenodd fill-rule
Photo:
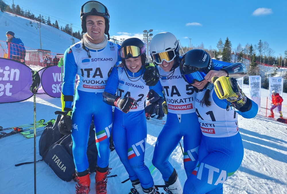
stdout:
<svg viewBox="0 0 287 194">
<path fill-rule="evenodd" d="M 111 168 L 107 167 L 107 171 L 100 173 L 99 171 L 103 170 L 102 168 L 97 168 L 96 171 L 96 194 L 106 194 L 107 193 L 107 176 L 110 174 Z"/>
</svg>

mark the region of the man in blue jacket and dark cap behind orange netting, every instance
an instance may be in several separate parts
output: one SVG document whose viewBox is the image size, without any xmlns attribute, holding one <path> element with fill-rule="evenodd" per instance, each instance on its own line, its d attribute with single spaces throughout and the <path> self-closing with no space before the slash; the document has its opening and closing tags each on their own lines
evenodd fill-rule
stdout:
<svg viewBox="0 0 287 194">
<path fill-rule="evenodd" d="M 9 58 L 25 64 L 26 49 L 24 43 L 20 38 L 15 38 L 14 35 L 15 33 L 12 31 L 6 32 Z"/>
</svg>

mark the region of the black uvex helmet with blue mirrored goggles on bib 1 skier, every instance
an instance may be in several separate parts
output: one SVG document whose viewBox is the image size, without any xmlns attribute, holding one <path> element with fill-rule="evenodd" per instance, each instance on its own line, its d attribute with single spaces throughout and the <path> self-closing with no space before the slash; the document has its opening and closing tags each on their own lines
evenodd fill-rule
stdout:
<svg viewBox="0 0 287 194">
<path fill-rule="evenodd" d="M 210 55 L 206 51 L 193 49 L 182 56 L 179 69 L 185 81 L 193 84 L 194 80 L 198 82 L 204 80 L 204 76 L 210 70 L 213 70 L 214 66 Z"/>
</svg>

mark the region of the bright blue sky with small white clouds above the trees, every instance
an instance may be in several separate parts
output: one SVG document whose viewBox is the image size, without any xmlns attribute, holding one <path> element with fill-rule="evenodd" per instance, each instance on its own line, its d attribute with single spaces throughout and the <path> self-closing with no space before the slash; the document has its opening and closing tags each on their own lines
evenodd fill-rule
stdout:
<svg viewBox="0 0 287 194">
<path fill-rule="evenodd" d="M 11 5 L 12 0 L 4 0 Z M 86 2 L 62 0 L 14 0 L 24 10 L 36 16 L 48 15 L 51 22 L 57 19 L 63 27 L 73 23 L 73 31 L 80 30 L 80 8 Z M 240 43 L 257 45 L 266 41 L 274 52 L 284 56 L 287 50 L 287 1 L 193 1 L 193 0 L 101 0 L 110 13 L 110 36 L 119 38 L 142 37 L 143 30 L 153 34 L 173 33 L 182 46 L 216 49 L 221 38 L 231 41 L 233 50 Z M 177 3 L 177 4 L 175 4 Z M 190 40 L 191 38 L 191 40 Z"/>
</svg>

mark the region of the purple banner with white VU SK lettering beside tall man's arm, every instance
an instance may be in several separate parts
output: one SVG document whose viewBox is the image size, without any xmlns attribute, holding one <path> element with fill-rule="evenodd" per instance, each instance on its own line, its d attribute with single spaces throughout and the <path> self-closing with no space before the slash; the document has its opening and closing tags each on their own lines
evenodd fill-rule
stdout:
<svg viewBox="0 0 287 194">
<path fill-rule="evenodd" d="M 62 90 L 61 68 L 57 65 L 45 68 L 41 75 L 41 84 L 46 94 L 60 98 Z"/>
</svg>

